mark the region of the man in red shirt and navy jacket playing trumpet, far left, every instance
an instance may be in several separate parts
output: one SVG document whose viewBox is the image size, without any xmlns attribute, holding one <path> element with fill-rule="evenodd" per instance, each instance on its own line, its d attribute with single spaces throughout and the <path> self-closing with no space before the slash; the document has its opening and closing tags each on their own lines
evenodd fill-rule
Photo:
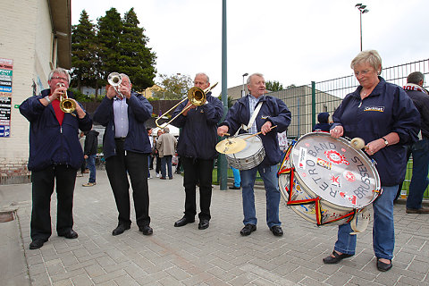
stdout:
<svg viewBox="0 0 429 286">
<path fill-rule="evenodd" d="M 67 92 L 68 71 L 56 68 L 49 73 L 47 83 L 49 88 L 42 90 L 41 96 L 29 97 L 20 105 L 21 114 L 29 121 L 32 181 L 29 249 L 41 248 L 52 234 L 50 206 L 55 179 L 56 232 L 66 239 L 78 238 L 73 231 L 72 211 L 76 172 L 83 161 L 78 134 L 79 130 L 88 131 L 92 127 L 91 118 Z"/>
</svg>

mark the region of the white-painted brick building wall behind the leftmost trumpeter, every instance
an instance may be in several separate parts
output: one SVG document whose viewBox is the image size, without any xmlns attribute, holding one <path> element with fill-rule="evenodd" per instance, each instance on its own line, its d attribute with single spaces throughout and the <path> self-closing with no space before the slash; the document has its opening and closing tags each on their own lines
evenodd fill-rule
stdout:
<svg viewBox="0 0 429 286">
<path fill-rule="evenodd" d="M 46 0 L 0 1 L 0 11 L 0 58 L 13 60 L 11 135 L 0 138 L 2 184 L 29 180 L 29 122 L 16 107 L 33 95 L 33 80 L 47 86 L 52 28 Z"/>
</svg>

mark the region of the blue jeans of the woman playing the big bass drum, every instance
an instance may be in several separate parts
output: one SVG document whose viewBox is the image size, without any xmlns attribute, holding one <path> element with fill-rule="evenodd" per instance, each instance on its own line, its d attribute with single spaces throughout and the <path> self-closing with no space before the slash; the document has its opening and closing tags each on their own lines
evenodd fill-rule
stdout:
<svg viewBox="0 0 429 286">
<path fill-rule="evenodd" d="M 395 229 L 393 225 L 393 199 L 396 197 L 398 185 L 383 187 L 383 194 L 375 199 L 373 248 L 375 257 L 391 259 L 395 248 Z M 350 223 L 341 224 L 338 228 L 338 240 L 335 250 L 341 253 L 354 255 L 356 248 L 356 235 L 351 232 Z"/>
</svg>

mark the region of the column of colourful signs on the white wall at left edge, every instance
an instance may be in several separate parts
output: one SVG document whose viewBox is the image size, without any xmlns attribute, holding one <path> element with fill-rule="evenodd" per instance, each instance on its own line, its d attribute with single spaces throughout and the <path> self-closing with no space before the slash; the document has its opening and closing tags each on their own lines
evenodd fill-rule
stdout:
<svg viewBox="0 0 429 286">
<path fill-rule="evenodd" d="M 0 137 L 10 137 L 13 60 L 0 58 Z"/>
</svg>

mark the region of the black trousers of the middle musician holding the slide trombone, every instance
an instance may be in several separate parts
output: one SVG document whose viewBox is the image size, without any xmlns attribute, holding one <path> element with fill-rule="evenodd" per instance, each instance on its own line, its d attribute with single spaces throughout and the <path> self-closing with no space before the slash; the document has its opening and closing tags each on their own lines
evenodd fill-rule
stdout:
<svg viewBox="0 0 429 286">
<path fill-rule="evenodd" d="M 182 157 L 185 187 L 185 216 L 189 219 L 197 214 L 196 189 L 199 183 L 199 207 L 201 212 L 199 219 L 210 220 L 210 204 L 212 201 L 212 172 L 213 159 L 203 160 L 199 158 Z"/>
</svg>

